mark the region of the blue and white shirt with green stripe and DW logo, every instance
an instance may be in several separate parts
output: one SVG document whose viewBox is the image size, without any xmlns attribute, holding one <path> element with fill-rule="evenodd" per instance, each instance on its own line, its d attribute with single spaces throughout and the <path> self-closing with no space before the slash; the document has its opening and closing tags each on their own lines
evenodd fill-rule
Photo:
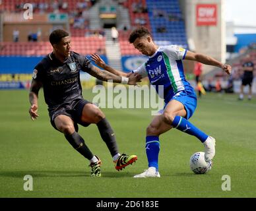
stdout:
<svg viewBox="0 0 256 211">
<path fill-rule="evenodd" d="M 177 45 L 159 47 L 154 55 L 133 73 L 148 76 L 150 83 L 156 87 L 156 92 L 160 85 L 164 86 L 164 100 L 168 102 L 177 92 L 193 89 L 185 79 L 181 61 L 186 53 L 186 49 Z"/>
</svg>

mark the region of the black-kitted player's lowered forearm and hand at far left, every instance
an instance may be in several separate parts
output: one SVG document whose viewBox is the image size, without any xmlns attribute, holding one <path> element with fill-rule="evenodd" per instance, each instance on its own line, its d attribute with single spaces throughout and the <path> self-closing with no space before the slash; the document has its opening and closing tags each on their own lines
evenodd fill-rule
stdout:
<svg viewBox="0 0 256 211">
<path fill-rule="evenodd" d="M 31 106 L 28 109 L 28 113 L 33 121 L 38 117 L 38 92 L 41 87 L 42 83 L 33 78 L 29 92 L 29 102 Z"/>
</svg>

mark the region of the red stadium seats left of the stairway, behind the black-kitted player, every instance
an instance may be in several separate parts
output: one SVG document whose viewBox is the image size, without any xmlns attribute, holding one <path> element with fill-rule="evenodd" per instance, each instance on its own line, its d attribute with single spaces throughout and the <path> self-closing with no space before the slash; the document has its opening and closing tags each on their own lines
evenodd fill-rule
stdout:
<svg viewBox="0 0 256 211">
<path fill-rule="evenodd" d="M 59 3 L 60 2 L 60 3 Z M 91 1 L 50 1 L 36 0 L 33 1 L 33 13 L 58 13 L 69 12 L 70 28 L 72 36 L 72 50 L 83 55 L 91 53 L 106 53 L 106 38 L 102 30 L 86 29 L 86 20 L 82 17 L 82 11 L 88 11 L 92 6 Z M 0 4 L 0 11 L 8 11 L 18 13 L 23 10 L 23 1 L 10 0 L 3 1 Z M 67 8 L 69 9 L 67 11 Z M 74 22 L 76 18 L 82 17 L 79 27 Z M 88 24 L 88 23 L 87 23 Z M 43 56 L 51 51 L 49 42 L 1 42 L 0 55 L 21 55 L 21 56 Z"/>
</svg>

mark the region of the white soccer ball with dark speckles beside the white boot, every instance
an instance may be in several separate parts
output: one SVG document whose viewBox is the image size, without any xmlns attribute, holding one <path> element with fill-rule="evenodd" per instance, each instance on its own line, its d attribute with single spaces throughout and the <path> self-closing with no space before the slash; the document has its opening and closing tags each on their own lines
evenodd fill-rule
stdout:
<svg viewBox="0 0 256 211">
<path fill-rule="evenodd" d="M 197 174 L 207 173 L 212 169 L 212 161 L 205 162 L 205 152 L 195 152 L 190 158 L 190 169 Z"/>
</svg>

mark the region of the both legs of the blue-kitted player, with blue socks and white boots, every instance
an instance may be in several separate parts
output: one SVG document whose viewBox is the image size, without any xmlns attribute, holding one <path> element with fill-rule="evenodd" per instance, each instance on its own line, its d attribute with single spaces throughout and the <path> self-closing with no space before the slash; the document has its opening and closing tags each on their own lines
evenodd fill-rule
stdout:
<svg viewBox="0 0 256 211">
<path fill-rule="evenodd" d="M 172 127 L 176 127 L 189 135 L 197 136 L 201 142 L 205 142 L 205 160 L 212 160 L 215 154 L 215 140 L 212 140 L 210 136 L 205 135 L 205 133 L 189 123 L 184 118 L 186 115 L 187 111 L 183 104 L 177 100 L 171 100 L 164 109 L 164 113 L 154 118 L 147 129 L 146 136 L 148 169 L 139 175 L 135 175 L 135 178 L 160 177 L 160 173 L 158 172 L 159 136 L 172 129 Z"/>
</svg>

